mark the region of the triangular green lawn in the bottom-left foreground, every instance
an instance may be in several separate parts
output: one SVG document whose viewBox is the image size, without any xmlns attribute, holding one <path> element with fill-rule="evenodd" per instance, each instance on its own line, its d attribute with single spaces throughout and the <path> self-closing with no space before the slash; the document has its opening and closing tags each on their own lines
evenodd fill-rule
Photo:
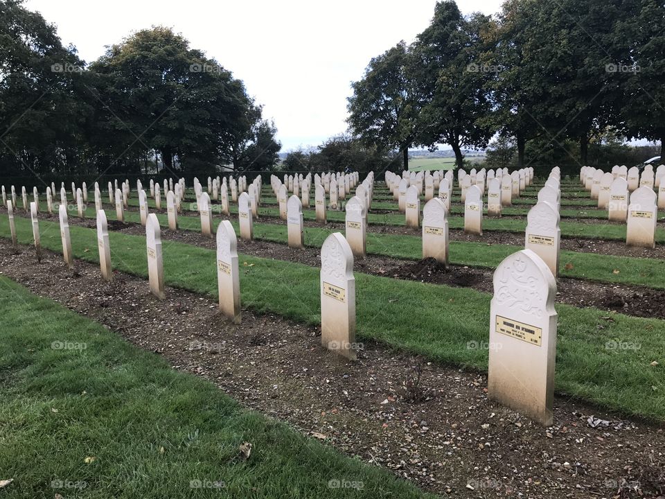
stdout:
<svg viewBox="0 0 665 499">
<path fill-rule="evenodd" d="M 12 325 L 0 332 L 0 478 L 15 480 L 3 499 L 426 497 L 6 277 L 0 313 Z M 236 459 L 244 441 L 247 462 Z M 329 489 L 332 479 L 364 488 Z M 86 487 L 51 487 L 58 480 Z"/>
</svg>

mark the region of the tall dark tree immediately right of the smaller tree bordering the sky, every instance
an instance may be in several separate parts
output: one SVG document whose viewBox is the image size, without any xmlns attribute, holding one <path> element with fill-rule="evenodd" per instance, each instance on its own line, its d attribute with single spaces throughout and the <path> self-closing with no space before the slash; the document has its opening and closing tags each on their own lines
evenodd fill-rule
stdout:
<svg viewBox="0 0 665 499">
<path fill-rule="evenodd" d="M 418 142 L 434 150 L 450 144 L 457 166 L 462 148 L 484 148 L 493 134 L 485 89 L 490 71 L 483 62 L 488 17 L 465 19 L 456 3 L 436 3 L 432 24 L 418 35 L 414 53 L 424 104 L 418 116 Z"/>
</svg>

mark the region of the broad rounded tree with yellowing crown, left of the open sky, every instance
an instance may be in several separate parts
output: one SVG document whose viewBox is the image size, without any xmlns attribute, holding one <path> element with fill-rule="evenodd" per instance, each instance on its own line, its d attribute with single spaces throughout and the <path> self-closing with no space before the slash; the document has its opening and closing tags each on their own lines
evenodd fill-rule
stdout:
<svg viewBox="0 0 665 499">
<path fill-rule="evenodd" d="M 240 80 L 181 35 L 161 26 L 141 30 L 109 47 L 91 70 L 103 84 L 100 132 L 118 138 L 107 161 L 124 148 L 121 155 L 158 151 L 175 173 L 231 162 L 253 103 Z"/>
</svg>

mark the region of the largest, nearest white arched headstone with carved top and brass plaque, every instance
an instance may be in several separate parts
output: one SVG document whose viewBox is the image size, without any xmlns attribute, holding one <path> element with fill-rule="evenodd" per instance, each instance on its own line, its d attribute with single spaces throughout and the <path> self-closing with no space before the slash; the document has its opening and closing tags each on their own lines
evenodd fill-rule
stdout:
<svg viewBox="0 0 665 499">
<path fill-rule="evenodd" d="M 551 426 L 554 403 L 556 281 L 530 249 L 494 273 L 490 304 L 488 396 Z"/>
</svg>

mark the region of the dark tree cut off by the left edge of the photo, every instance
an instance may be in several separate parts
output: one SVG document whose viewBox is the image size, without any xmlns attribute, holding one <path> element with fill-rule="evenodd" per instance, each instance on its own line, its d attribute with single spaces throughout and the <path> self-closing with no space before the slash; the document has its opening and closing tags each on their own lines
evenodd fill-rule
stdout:
<svg viewBox="0 0 665 499">
<path fill-rule="evenodd" d="M 0 1 L 0 165 L 4 175 L 71 173 L 92 112 L 85 64 L 22 3 Z"/>
</svg>

